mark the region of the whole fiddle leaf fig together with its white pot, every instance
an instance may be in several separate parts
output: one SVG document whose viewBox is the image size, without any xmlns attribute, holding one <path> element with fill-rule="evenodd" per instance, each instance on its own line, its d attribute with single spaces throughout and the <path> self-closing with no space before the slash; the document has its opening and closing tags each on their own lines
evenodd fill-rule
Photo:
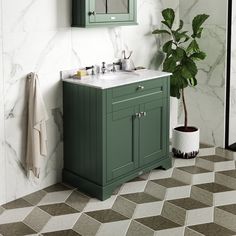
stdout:
<svg viewBox="0 0 236 236">
<path fill-rule="evenodd" d="M 209 15 L 200 14 L 192 21 L 192 33 L 184 31 L 184 22 L 180 20 L 179 27 L 173 29 L 175 13 L 171 8 L 162 11 L 162 24 L 165 29 L 156 29 L 153 34 L 166 34 L 170 37 L 163 45 L 166 57 L 163 71 L 171 72 L 170 94 L 182 98 L 184 108 L 184 125 L 173 129 L 172 152 L 180 158 L 194 158 L 199 152 L 199 129 L 188 125 L 185 88 L 196 86 L 198 68 L 196 61 L 204 60 L 206 54 L 200 49 L 198 40 L 202 37 L 202 25 Z"/>
</svg>

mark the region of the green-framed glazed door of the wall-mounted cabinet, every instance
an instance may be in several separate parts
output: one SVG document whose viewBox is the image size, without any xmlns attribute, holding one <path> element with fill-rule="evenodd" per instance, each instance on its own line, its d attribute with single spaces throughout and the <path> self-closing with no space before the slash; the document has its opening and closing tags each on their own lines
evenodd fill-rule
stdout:
<svg viewBox="0 0 236 236">
<path fill-rule="evenodd" d="M 136 0 L 90 0 L 89 23 L 136 21 Z"/>
</svg>

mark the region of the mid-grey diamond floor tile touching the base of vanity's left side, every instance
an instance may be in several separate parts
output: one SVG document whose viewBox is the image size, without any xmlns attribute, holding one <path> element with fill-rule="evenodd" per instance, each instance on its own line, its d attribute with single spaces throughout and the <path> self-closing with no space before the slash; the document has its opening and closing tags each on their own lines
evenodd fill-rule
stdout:
<svg viewBox="0 0 236 236">
<path fill-rule="evenodd" d="M 78 191 L 74 191 L 66 200 L 66 203 L 78 211 L 82 211 L 90 198 Z"/>
</svg>

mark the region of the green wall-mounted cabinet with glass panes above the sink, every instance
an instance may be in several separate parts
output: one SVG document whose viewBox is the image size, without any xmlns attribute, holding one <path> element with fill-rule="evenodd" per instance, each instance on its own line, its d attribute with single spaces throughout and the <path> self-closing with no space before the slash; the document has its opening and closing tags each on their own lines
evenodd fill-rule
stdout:
<svg viewBox="0 0 236 236">
<path fill-rule="evenodd" d="M 72 26 L 137 24 L 137 0 L 72 0 Z"/>
</svg>

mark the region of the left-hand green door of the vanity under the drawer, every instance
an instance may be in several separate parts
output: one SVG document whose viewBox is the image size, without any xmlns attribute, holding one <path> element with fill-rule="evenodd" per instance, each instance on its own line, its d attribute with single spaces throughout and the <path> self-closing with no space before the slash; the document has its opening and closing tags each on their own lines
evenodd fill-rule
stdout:
<svg viewBox="0 0 236 236">
<path fill-rule="evenodd" d="M 107 115 L 107 181 L 138 167 L 139 107 L 131 107 Z"/>
</svg>

